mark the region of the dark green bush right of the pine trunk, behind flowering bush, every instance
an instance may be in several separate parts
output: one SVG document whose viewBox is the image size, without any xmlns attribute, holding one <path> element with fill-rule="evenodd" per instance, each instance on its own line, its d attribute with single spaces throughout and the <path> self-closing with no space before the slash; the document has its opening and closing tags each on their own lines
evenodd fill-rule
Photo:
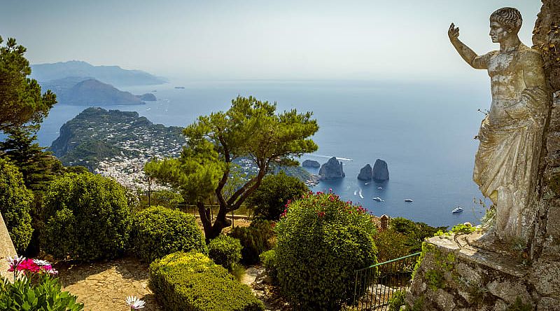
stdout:
<svg viewBox="0 0 560 311">
<path fill-rule="evenodd" d="M 247 204 L 254 206 L 256 217 L 277 221 L 288 200 L 301 198 L 308 191 L 309 188 L 300 179 L 279 172 L 262 179 L 258 189 L 247 198 Z"/>
</svg>

